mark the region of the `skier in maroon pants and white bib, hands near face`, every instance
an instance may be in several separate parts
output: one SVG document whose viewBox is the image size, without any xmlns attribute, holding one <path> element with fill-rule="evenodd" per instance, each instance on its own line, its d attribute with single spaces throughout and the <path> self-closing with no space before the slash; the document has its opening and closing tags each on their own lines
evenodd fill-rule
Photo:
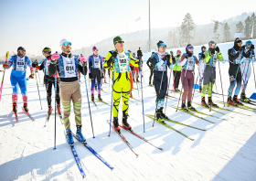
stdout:
<svg viewBox="0 0 256 181">
<path fill-rule="evenodd" d="M 192 100 L 192 91 L 194 87 L 194 69 L 195 64 L 199 64 L 199 61 L 194 54 L 194 47 L 191 44 L 188 44 L 186 47 L 186 53 L 181 56 L 180 62 L 183 70 L 181 72 L 181 81 L 183 85 L 183 94 L 182 94 L 182 104 L 181 108 L 183 110 L 196 110 L 191 105 Z M 187 107 L 186 107 L 187 100 Z"/>
</svg>

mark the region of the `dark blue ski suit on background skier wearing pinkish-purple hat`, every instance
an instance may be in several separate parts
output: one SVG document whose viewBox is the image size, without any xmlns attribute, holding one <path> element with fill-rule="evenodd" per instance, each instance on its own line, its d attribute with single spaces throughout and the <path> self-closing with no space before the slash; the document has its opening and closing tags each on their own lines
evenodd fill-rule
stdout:
<svg viewBox="0 0 256 181">
<path fill-rule="evenodd" d="M 101 94 L 101 74 L 103 73 L 101 56 L 91 55 L 89 57 L 89 73 L 91 73 L 91 94 L 94 94 L 94 86 L 98 85 L 98 94 Z"/>
</svg>

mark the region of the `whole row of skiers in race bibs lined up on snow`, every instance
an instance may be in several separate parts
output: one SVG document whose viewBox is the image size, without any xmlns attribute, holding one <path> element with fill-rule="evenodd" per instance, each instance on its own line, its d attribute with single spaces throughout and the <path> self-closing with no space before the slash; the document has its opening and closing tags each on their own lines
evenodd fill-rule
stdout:
<svg viewBox="0 0 256 181">
<path fill-rule="evenodd" d="M 21 90 L 25 112 L 27 108 L 27 66 L 30 69 L 29 79 L 34 79 L 34 69 L 44 70 L 44 80 L 47 91 L 48 114 L 52 112 L 51 95 L 52 87 L 56 87 L 56 104 L 57 110 L 61 115 L 60 101 L 63 107 L 63 123 L 67 132 L 67 142 L 73 144 L 73 137 L 70 130 L 70 101 L 73 102 L 73 109 L 75 113 L 75 122 L 77 126 L 76 136 L 80 142 L 85 142 L 86 139 L 81 133 L 81 91 L 79 75 L 86 75 L 89 69 L 89 78 L 91 80 L 91 101 L 94 101 L 94 88 L 98 88 L 98 101 L 101 99 L 101 79 L 106 83 L 106 71 L 108 71 L 109 78 L 112 78 L 112 120 L 113 129 L 120 132 L 118 112 L 119 104 L 123 101 L 123 127 L 131 130 L 132 126 L 128 123 L 129 111 L 129 97 L 133 97 L 132 89 L 133 82 L 139 82 L 139 72 L 142 71 L 142 57 L 141 49 L 137 51 L 137 57 L 132 55 L 130 50 L 123 49 L 124 41 L 122 37 L 113 38 L 114 49 L 110 50 L 106 58 L 99 55 L 99 50 L 96 47 L 92 48 L 92 55 L 88 62 L 84 56 L 77 56 L 71 54 L 71 42 L 67 39 L 61 39 L 59 47 L 62 52 L 53 53 L 51 48 L 44 48 L 42 53 L 45 59 L 41 62 L 33 62 L 26 56 L 26 49 L 17 48 L 17 55 L 12 56 L 4 65 L 5 69 L 13 67 L 10 76 L 11 84 L 13 86 L 13 112 L 17 112 L 16 102 L 18 87 Z M 157 51 L 153 52 L 151 57 L 147 60 L 147 65 L 150 69 L 149 85 L 155 86 L 156 100 L 155 100 L 155 116 L 159 122 L 164 122 L 168 117 L 163 112 L 165 107 L 165 96 L 167 96 L 168 89 L 168 75 L 167 68 L 173 71 L 173 91 L 182 93 L 181 109 L 184 111 L 195 111 L 192 106 L 195 83 L 195 64 L 198 67 L 199 75 L 199 91 L 201 91 L 201 104 L 203 106 L 218 107 L 212 101 L 212 88 L 216 80 L 216 66 L 218 61 L 223 61 L 223 56 L 219 47 L 214 41 L 208 42 L 208 50 L 205 46 L 201 47 L 201 52 L 197 56 L 194 55 L 194 47 L 188 44 L 186 52 L 182 54 L 180 50 L 176 51 L 174 56 L 173 51 L 170 54 L 165 52 L 166 45 L 163 41 L 157 43 Z M 248 80 L 251 76 L 251 62 L 254 61 L 254 45 L 251 41 L 247 41 L 242 46 L 240 38 L 236 38 L 233 48 L 229 49 L 229 91 L 228 103 L 231 105 L 242 104 L 238 99 L 240 88 L 240 100 L 250 102 L 246 97 L 245 91 Z M 87 64 L 88 63 L 88 64 Z M 89 66 L 89 68 L 87 67 Z M 153 77 L 153 84 L 152 82 Z M 170 79 L 170 78 L 169 78 Z M 135 81 L 136 80 L 136 81 Z M 243 86 L 241 82 L 243 80 Z M 178 90 L 179 81 L 182 83 L 181 91 Z M 234 85 L 237 85 L 234 96 L 232 92 Z M 183 92 L 182 92 L 183 91 Z M 208 92 L 208 103 L 206 102 L 206 92 Z M 186 104 L 187 102 L 187 104 Z"/>
</svg>

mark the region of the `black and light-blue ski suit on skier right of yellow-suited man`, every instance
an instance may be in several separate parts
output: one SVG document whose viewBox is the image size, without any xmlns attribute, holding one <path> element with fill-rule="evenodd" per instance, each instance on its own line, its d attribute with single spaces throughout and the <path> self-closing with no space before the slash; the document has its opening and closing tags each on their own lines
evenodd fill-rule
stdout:
<svg viewBox="0 0 256 181">
<path fill-rule="evenodd" d="M 151 63 L 155 69 L 155 72 L 154 72 L 154 82 L 155 82 L 155 92 L 156 92 L 155 105 L 157 105 L 156 109 L 159 110 L 160 108 L 164 108 L 165 94 L 168 88 L 167 67 L 169 69 L 172 69 L 172 64 L 170 62 L 170 59 L 165 58 L 165 53 L 161 53 L 161 52 L 156 52 L 152 54 Z M 163 80 L 162 80 L 162 76 L 163 76 Z M 160 86 L 161 86 L 161 90 L 160 90 Z M 159 93 L 159 90 L 160 90 L 160 93 Z"/>
</svg>

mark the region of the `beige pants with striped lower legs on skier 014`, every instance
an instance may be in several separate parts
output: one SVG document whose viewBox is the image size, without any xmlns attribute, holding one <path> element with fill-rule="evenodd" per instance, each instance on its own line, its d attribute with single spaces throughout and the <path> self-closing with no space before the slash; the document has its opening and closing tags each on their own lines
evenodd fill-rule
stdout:
<svg viewBox="0 0 256 181">
<path fill-rule="evenodd" d="M 81 125 L 81 94 L 79 80 L 72 82 L 60 81 L 59 83 L 60 100 L 64 109 L 63 122 L 66 130 L 70 129 L 70 101 L 73 102 L 76 125 Z"/>
</svg>

